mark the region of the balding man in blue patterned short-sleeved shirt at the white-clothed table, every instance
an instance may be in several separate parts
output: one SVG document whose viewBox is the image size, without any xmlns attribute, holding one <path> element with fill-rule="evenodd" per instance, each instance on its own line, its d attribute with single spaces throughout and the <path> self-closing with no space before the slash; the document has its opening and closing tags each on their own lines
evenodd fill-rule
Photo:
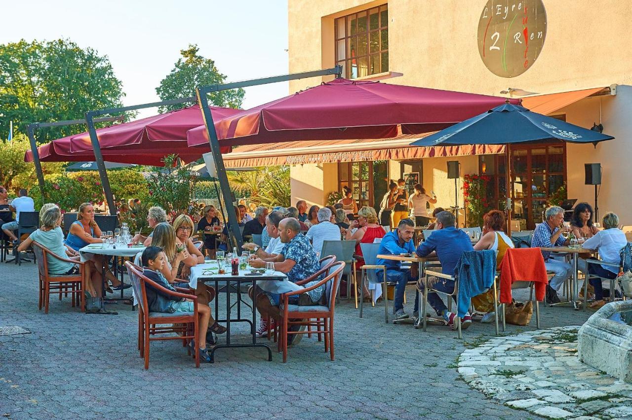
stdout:
<svg viewBox="0 0 632 420">
<path fill-rule="evenodd" d="M 297 281 L 307 279 L 320 270 L 319 259 L 312 248 L 312 244 L 305 235 L 301 234 L 301 226 L 298 220 L 294 218 L 283 219 L 279 223 L 279 236 L 281 236 L 281 242 L 284 243 L 281 254 L 274 258 L 267 259 L 274 263 L 275 271 L 284 272 L 287 274 L 289 281 L 296 283 Z M 250 265 L 255 268 L 263 268 L 265 267 L 265 262 L 266 261 L 257 258 L 251 260 Z M 322 278 L 314 279 L 309 283 L 303 284 L 303 287 L 308 288 L 313 286 L 313 284 L 318 283 L 320 280 L 322 280 Z M 262 325 L 260 325 L 257 334 L 261 335 L 267 330 L 267 325 L 263 325 L 265 324 L 265 319 L 270 317 L 274 320 L 281 317 L 281 310 L 279 309 L 281 295 L 279 293 L 263 291 L 258 286 L 257 288 L 257 310 L 262 318 Z M 307 296 L 311 301 L 307 304 L 318 303 L 324 291 L 325 286 L 323 285 L 307 292 Z M 250 298 L 252 298 L 252 291 L 250 292 Z M 292 296 L 289 303 L 296 305 L 298 304 L 298 299 L 298 296 Z M 291 335 L 291 337 L 294 337 L 295 344 L 300 341 L 302 335 L 303 334 Z"/>
</svg>

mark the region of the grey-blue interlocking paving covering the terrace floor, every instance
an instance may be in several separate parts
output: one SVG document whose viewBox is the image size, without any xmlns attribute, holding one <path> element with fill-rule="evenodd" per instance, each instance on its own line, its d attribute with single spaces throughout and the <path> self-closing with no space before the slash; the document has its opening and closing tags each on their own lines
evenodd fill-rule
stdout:
<svg viewBox="0 0 632 420">
<path fill-rule="evenodd" d="M 525 298 L 524 295 L 517 298 Z M 407 309 L 412 310 L 413 289 Z M 85 315 L 70 298 L 37 310 L 37 269 L 0 264 L 0 327 L 32 334 L 0 336 L 0 415 L 42 418 L 540 418 L 487 399 L 459 379 L 459 354 L 494 338 L 475 322 L 463 340 L 447 327 L 384 323 L 382 306 L 336 306 L 336 361 L 305 337 L 288 363 L 261 349 L 219 349 L 196 369 L 178 341 L 151 344 L 150 370 L 138 358 L 137 313 Z M 589 313 L 542 308 L 542 327 L 582 324 Z M 535 324 L 533 320 L 532 324 Z M 234 326 L 235 324 L 233 324 Z M 249 332 L 245 325 L 238 333 Z M 506 334 L 533 327 L 507 325 Z M 233 336 L 235 337 L 235 336 Z M 246 341 L 246 335 L 236 339 Z M 273 347 L 274 350 L 274 347 Z"/>
</svg>

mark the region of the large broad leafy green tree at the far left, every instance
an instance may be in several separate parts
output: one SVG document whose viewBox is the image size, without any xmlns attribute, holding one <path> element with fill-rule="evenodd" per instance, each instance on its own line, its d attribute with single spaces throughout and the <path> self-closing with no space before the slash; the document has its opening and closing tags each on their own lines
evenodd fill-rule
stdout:
<svg viewBox="0 0 632 420">
<path fill-rule="evenodd" d="M 31 122 L 82 119 L 85 112 L 120 107 L 124 96 L 106 55 L 70 40 L 0 45 L 0 136 L 13 121 L 26 132 Z M 47 127 L 40 143 L 86 130 L 85 125 Z"/>
</svg>

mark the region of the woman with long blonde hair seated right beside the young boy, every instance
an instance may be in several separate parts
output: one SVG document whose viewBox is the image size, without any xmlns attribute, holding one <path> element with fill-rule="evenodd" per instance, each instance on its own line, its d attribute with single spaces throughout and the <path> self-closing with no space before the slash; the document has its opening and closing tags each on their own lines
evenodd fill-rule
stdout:
<svg viewBox="0 0 632 420">
<path fill-rule="evenodd" d="M 169 225 L 169 223 L 159 223 L 154 228 L 154 236 L 152 236 L 152 247 L 162 248 L 164 255 L 166 257 L 165 263 L 160 269 L 162 276 L 165 277 L 169 284 L 173 284 L 173 286 L 178 286 L 180 288 L 188 288 L 189 283 L 178 279 L 178 267 L 181 262 L 187 261 L 188 264 L 196 265 L 197 260 L 193 258 L 184 245 L 178 245 L 176 238 L 176 231 L 173 230 L 173 227 Z M 198 303 L 200 305 L 208 306 L 210 301 L 215 298 L 215 289 L 207 284 L 202 282 L 198 282 L 197 288 L 194 291 L 195 296 L 198 297 Z M 207 342 L 210 344 L 214 344 L 214 337 L 212 337 L 212 332 L 216 334 L 222 334 L 226 332 L 226 328 L 217 324 L 215 320 L 210 318 L 209 334 L 207 334 Z"/>
</svg>

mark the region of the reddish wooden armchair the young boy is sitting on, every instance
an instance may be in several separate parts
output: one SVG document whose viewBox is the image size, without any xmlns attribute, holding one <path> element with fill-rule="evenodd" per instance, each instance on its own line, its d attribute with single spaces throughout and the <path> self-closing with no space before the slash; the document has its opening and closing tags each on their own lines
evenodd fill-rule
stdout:
<svg viewBox="0 0 632 420">
<path fill-rule="evenodd" d="M 153 280 L 143 275 L 143 270 L 136 264 L 126 261 L 125 265 L 130 275 L 131 284 L 134 293 L 137 296 L 139 304 L 138 308 L 138 351 L 140 357 L 145 359 L 145 369 L 149 369 L 149 344 L 156 340 L 195 340 L 195 367 L 200 367 L 200 348 L 197 343 L 198 339 L 198 303 L 197 296 L 189 295 L 189 289 L 176 288 L 177 291 L 171 291 L 155 283 Z M 193 300 L 193 312 L 149 312 L 147 304 L 147 289 L 145 285 L 149 284 L 154 289 L 160 290 L 162 293 L 174 296 L 175 298 L 185 298 Z M 158 325 L 171 324 L 168 327 L 160 327 Z M 184 325 L 184 326 L 182 326 Z M 171 335 L 168 337 L 150 337 L 157 334 L 182 334 Z M 189 351 L 190 354 L 190 351 Z"/>
</svg>

